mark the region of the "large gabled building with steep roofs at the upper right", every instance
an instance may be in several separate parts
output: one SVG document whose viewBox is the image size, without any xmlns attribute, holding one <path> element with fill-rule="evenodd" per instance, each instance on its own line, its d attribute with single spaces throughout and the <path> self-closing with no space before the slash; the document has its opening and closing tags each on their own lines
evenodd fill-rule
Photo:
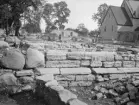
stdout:
<svg viewBox="0 0 139 105">
<path fill-rule="evenodd" d="M 139 41 L 139 1 L 124 0 L 121 7 L 110 6 L 100 29 L 104 41 Z"/>
</svg>

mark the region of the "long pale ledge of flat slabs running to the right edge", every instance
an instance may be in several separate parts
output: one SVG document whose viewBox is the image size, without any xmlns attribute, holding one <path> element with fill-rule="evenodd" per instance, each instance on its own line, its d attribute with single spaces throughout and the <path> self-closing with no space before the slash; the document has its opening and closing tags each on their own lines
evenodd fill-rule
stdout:
<svg viewBox="0 0 139 105">
<path fill-rule="evenodd" d="M 40 74 L 126 74 L 139 73 L 139 68 L 37 68 Z"/>
</svg>

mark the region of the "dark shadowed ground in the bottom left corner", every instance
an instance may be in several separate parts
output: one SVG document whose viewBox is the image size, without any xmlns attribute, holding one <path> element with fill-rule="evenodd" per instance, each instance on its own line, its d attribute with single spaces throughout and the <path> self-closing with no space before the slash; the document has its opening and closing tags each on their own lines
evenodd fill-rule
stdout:
<svg viewBox="0 0 139 105">
<path fill-rule="evenodd" d="M 36 97 L 33 92 L 22 92 L 16 95 L 0 95 L 0 105 L 48 105 L 44 99 Z"/>
</svg>

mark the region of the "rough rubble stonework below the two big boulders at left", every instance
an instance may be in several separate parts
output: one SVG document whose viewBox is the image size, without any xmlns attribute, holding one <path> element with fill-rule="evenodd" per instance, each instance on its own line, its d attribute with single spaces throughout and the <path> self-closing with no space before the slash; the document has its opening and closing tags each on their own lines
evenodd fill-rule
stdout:
<svg viewBox="0 0 139 105">
<path fill-rule="evenodd" d="M 32 69 L 24 71 L 0 69 L 0 92 L 16 94 L 34 90 L 35 74 Z"/>
</svg>

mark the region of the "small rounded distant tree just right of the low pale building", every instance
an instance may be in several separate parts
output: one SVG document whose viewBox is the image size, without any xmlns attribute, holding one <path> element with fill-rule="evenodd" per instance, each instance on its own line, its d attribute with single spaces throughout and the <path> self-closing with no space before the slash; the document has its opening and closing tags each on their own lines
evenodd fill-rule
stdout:
<svg viewBox="0 0 139 105">
<path fill-rule="evenodd" d="M 89 30 L 85 27 L 83 23 L 79 24 L 76 32 L 78 32 L 80 35 L 88 35 Z"/>
</svg>

